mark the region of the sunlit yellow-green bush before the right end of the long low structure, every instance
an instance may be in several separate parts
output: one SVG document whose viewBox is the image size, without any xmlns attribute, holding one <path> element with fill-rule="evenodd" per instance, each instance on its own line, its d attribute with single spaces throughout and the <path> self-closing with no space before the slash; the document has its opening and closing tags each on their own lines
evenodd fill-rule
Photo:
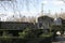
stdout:
<svg viewBox="0 0 65 43">
<path fill-rule="evenodd" d="M 34 32 L 31 31 L 31 29 L 25 29 L 23 30 L 23 32 L 18 32 L 20 37 L 22 39 L 26 39 L 26 38 L 36 38 L 36 35 L 34 34 Z"/>
</svg>

